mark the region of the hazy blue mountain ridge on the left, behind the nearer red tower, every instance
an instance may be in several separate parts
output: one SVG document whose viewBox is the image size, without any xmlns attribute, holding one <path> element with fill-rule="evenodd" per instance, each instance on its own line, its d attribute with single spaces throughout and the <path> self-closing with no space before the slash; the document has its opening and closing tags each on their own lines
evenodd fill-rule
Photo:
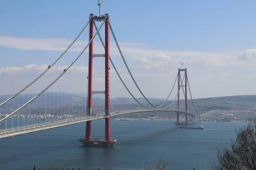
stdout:
<svg viewBox="0 0 256 170">
<path fill-rule="evenodd" d="M 36 94 L 24 94 L 16 96 L 12 101 L 8 102 L 6 105 L 2 106 L 0 109 L 0 114 L 9 114 L 12 111 L 15 111 L 20 106 L 24 105 L 30 99 L 32 99 Z M 2 95 L 0 96 L 0 103 L 4 102 L 6 99 L 9 99 L 12 95 Z M 105 97 L 103 95 L 95 94 L 93 95 L 93 106 L 103 109 L 105 104 Z M 138 98 L 138 101 L 146 105 L 146 101 L 143 98 Z M 163 102 L 160 99 L 148 99 L 151 103 Z M 111 99 L 111 111 L 120 111 L 120 106 L 126 106 L 126 109 L 133 110 L 138 109 L 139 105 L 134 105 L 137 102 L 133 98 L 117 97 Z M 7 106 L 7 107 L 6 107 Z M 69 94 L 65 92 L 46 92 L 41 94 L 37 99 L 23 108 L 24 113 L 31 113 L 40 111 L 42 113 L 53 113 L 58 107 L 58 111 L 84 111 L 87 106 L 87 94 L 76 93 Z M 55 110 L 53 109 L 55 108 Z M 7 109 L 7 111 L 6 111 Z"/>
</svg>

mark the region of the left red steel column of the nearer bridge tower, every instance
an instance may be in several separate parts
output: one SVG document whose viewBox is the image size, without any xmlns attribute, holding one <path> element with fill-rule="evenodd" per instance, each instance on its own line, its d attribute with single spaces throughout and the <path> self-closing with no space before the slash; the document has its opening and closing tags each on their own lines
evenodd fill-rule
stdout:
<svg viewBox="0 0 256 170">
<path fill-rule="evenodd" d="M 93 18 L 90 20 L 89 41 L 93 38 Z M 88 68 L 88 108 L 87 116 L 92 113 L 92 90 L 93 90 L 93 41 L 89 45 L 89 68 Z M 86 122 L 85 139 L 91 140 L 91 121 Z"/>
</svg>

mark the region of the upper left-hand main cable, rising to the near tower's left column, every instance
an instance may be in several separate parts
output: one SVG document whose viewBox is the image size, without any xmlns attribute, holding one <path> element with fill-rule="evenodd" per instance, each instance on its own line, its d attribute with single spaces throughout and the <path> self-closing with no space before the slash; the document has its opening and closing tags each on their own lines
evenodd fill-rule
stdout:
<svg viewBox="0 0 256 170">
<path fill-rule="evenodd" d="M 56 62 L 58 62 L 59 59 L 61 59 L 61 57 L 67 52 L 67 50 L 74 44 L 74 42 L 76 42 L 76 40 L 78 39 L 78 37 L 82 34 L 82 32 L 84 31 L 84 29 L 87 27 L 88 23 L 90 23 L 92 17 L 90 17 L 90 19 L 87 21 L 87 23 L 85 24 L 85 26 L 82 28 L 82 30 L 79 32 L 79 34 L 76 36 L 76 38 L 70 43 L 70 45 L 62 52 L 62 54 L 54 61 L 52 62 L 51 65 L 49 65 L 47 67 L 46 70 L 44 70 L 38 77 L 36 77 L 32 82 L 30 82 L 28 85 L 26 85 L 24 88 L 22 88 L 19 92 L 17 92 L 16 94 L 14 94 L 13 96 L 11 96 L 9 99 L 7 99 L 6 101 L 4 101 L 3 103 L 0 104 L 0 107 L 4 104 L 6 104 L 7 102 L 9 102 L 10 100 L 12 100 L 13 98 L 15 98 L 17 95 L 19 95 L 20 93 L 22 93 L 24 90 L 26 90 L 27 88 L 29 88 L 29 86 L 31 86 L 34 82 L 36 82 L 40 77 L 42 77 L 50 68 L 52 68 L 53 65 L 55 65 Z"/>
</svg>

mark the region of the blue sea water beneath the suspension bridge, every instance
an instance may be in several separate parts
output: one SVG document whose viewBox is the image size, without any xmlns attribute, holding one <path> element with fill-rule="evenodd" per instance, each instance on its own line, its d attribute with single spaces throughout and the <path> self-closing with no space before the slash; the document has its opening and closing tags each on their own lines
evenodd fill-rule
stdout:
<svg viewBox="0 0 256 170">
<path fill-rule="evenodd" d="M 104 120 L 92 122 L 92 139 L 104 139 Z M 210 170 L 216 147 L 230 147 L 235 127 L 244 124 L 205 122 L 205 130 L 180 129 L 173 121 L 111 121 L 114 147 L 83 147 L 85 123 L 0 139 L 0 170 L 80 167 L 81 170 L 140 170 L 156 154 L 172 161 L 168 170 Z"/>
</svg>

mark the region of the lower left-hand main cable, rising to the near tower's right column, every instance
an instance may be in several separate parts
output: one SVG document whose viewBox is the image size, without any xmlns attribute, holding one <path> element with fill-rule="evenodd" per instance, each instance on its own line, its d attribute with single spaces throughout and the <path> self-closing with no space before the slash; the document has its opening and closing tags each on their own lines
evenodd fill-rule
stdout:
<svg viewBox="0 0 256 170">
<path fill-rule="evenodd" d="M 103 24 L 105 23 L 107 17 L 105 17 L 104 21 L 102 22 L 102 24 L 99 26 L 99 30 L 102 28 Z M 94 37 L 96 36 L 96 34 L 99 32 L 96 31 L 96 33 L 93 35 L 92 39 L 87 43 L 87 45 L 84 47 L 84 49 L 80 52 L 80 54 L 73 60 L 73 62 L 70 63 L 70 65 L 64 69 L 64 71 L 53 81 L 51 82 L 46 88 L 44 88 L 43 91 L 41 91 L 39 94 L 37 94 L 36 96 L 34 96 L 31 100 L 29 100 L 28 102 L 26 102 L 26 104 L 24 104 L 23 106 L 21 106 L 20 108 L 18 108 L 16 111 L 12 112 L 11 114 L 9 114 L 8 116 L 6 116 L 5 118 L 1 119 L 0 122 L 3 122 L 4 120 L 6 120 L 7 118 L 9 118 L 10 116 L 12 116 L 13 114 L 15 114 L 16 112 L 20 111 L 22 108 L 24 108 L 26 105 L 28 105 L 29 103 L 31 103 L 33 100 L 35 100 L 38 96 L 40 96 L 41 94 L 44 93 L 44 91 L 46 91 L 49 87 L 51 87 L 59 78 L 61 78 L 61 76 L 63 76 L 67 70 L 76 62 L 77 59 L 79 59 L 79 57 L 84 53 L 84 51 L 86 50 L 86 48 L 90 45 L 90 43 L 93 41 Z"/>
</svg>

